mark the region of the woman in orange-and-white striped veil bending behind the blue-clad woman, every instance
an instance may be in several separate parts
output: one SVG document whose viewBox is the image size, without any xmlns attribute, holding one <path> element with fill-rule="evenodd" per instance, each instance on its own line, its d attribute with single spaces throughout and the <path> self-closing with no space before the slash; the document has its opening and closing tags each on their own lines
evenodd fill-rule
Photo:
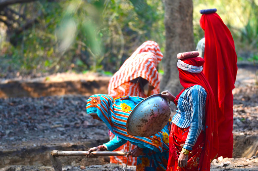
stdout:
<svg viewBox="0 0 258 171">
<path fill-rule="evenodd" d="M 124 62 L 109 82 L 109 95 L 113 98 L 123 96 L 139 96 L 146 98 L 160 93 L 160 78 L 157 66 L 163 58 L 160 47 L 155 41 L 145 41 Z M 148 83 L 148 93 L 144 93 L 144 86 Z M 110 135 L 112 140 L 114 135 Z M 115 151 L 130 151 L 136 148 L 127 142 Z M 136 159 L 129 156 L 111 156 L 111 163 L 127 163 L 136 165 Z"/>
</svg>

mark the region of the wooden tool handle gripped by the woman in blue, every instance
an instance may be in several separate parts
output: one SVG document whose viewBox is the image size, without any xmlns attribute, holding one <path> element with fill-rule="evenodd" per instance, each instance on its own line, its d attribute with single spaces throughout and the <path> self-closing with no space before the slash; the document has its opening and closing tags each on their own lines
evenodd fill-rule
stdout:
<svg viewBox="0 0 258 171">
<path fill-rule="evenodd" d="M 128 152 L 122 151 L 93 151 L 92 154 L 96 156 L 123 156 L 126 155 Z M 58 157 L 58 156 L 86 156 L 88 155 L 88 151 L 58 151 L 53 150 L 51 151 L 51 155 Z"/>
</svg>

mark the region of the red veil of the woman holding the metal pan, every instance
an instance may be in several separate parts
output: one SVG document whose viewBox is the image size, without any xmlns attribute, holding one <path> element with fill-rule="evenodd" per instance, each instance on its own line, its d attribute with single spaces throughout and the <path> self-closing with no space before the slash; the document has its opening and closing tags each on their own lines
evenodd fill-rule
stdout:
<svg viewBox="0 0 258 171">
<path fill-rule="evenodd" d="M 200 57 L 186 58 L 182 60 L 184 63 L 193 66 L 202 66 L 204 60 Z M 199 170 L 209 170 L 211 161 L 217 156 L 219 150 L 218 141 L 218 127 L 217 127 L 217 113 L 215 107 L 215 99 L 207 78 L 203 72 L 190 73 L 178 68 L 180 83 L 183 90 L 177 95 L 175 103 L 177 104 L 179 96 L 183 91 L 196 84 L 200 85 L 207 92 L 206 106 L 205 106 L 205 145 L 201 153 Z"/>
</svg>

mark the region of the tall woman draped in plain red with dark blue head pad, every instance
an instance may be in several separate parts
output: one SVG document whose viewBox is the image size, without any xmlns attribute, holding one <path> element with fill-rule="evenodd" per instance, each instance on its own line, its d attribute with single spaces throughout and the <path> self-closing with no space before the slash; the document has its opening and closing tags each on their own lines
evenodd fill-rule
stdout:
<svg viewBox="0 0 258 171">
<path fill-rule="evenodd" d="M 220 149 L 218 157 L 233 153 L 233 94 L 237 74 L 237 55 L 233 37 L 216 9 L 201 10 L 204 30 L 203 73 L 213 90 L 217 108 Z"/>
</svg>

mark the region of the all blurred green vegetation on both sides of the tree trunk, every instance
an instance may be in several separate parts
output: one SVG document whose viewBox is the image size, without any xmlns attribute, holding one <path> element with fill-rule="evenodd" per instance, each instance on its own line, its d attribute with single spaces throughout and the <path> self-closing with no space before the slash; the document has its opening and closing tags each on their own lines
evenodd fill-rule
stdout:
<svg viewBox="0 0 258 171">
<path fill-rule="evenodd" d="M 148 39 L 166 55 L 162 1 L 17 2 L 0 5 L 1 78 L 88 71 L 111 75 Z M 193 5 L 195 44 L 204 36 L 199 10 L 217 8 L 235 40 L 238 61 L 258 61 L 258 0 L 193 0 Z"/>
</svg>

